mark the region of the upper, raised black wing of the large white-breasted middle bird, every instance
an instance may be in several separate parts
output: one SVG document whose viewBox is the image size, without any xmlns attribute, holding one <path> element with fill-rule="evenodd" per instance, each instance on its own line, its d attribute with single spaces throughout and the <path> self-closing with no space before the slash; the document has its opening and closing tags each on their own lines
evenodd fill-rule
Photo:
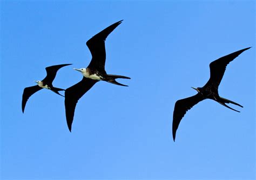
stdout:
<svg viewBox="0 0 256 180">
<path fill-rule="evenodd" d="M 107 36 L 119 25 L 123 20 L 118 21 L 100 31 L 94 35 L 91 39 L 86 42 L 87 47 L 90 49 L 92 54 L 92 60 L 88 68 L 98 69 L 105 71 L 106 51 L 105 51 L 105 40 Z"/>
</svg>

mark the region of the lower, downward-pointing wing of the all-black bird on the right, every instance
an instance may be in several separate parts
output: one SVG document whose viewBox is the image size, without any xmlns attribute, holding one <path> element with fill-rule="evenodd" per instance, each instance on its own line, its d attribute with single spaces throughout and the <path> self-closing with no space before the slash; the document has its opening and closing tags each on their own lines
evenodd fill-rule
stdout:
<svg viewBox="0 0 256 180">
<path fill-rule="evenodd" d="M 172 136 L 173 136 L 173 141 L 175 141 L 176 137 L 176 131 L 179 127 L 179 123 L 181 119 L 184 117 L 186 112 L 190 110 L 194 105 L 199 103 L 201 100 L 204 100 L 205 98 L 201 93 L 197 93 L 194 96 L 185 98 L 185 99 L 180 99 L 177 100 L 174 106 L 174 111 L 173 111 L 173 121 L 172 121 Z"/>
</svg>

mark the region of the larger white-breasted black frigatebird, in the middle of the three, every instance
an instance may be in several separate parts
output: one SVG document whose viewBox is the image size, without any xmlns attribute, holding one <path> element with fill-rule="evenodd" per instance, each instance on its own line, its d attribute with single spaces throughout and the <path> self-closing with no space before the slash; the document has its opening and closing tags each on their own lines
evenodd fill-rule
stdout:
<svg viewBox="0 0 256 180">
<path fill-rule="evenodd" d="M 65 91 L 65 110 L 66 122 L 71 132 L 71 126 L 78 100 L 98 81 L 106 81 L 109 83 L 126 86 L 118 83 L 116 78 L 130 79 L 130 77 L 106 74 L 105 61 L 105 40 L 107 36 L 119 25 L 123 20 L 118 21 L 99 32 L 86 42 L 87 47 L 92 54 L 92 60 L 87 68 L 75 69 L 83 74 L 82 81 L 66 89 Z"/>
</svg>

